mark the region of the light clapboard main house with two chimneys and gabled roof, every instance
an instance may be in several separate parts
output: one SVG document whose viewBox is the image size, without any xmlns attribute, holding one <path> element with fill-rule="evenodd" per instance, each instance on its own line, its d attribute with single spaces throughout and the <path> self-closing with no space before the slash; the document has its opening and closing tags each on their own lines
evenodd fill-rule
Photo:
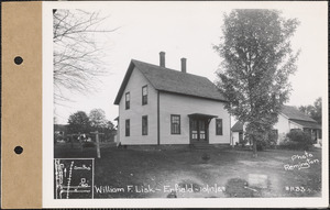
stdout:
<svg viewBox="0 0 330 210">
<path fill-rule="evenodd" d="M 206 77 L 132 59 L 114 104 L 122 145 L 229 144 L 227 100 Z"/>
</svg>

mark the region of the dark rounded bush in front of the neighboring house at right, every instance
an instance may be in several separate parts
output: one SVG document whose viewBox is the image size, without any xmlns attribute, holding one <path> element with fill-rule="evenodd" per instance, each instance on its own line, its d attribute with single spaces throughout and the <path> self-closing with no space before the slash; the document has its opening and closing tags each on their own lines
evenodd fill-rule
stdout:
<svg viewBox="0 0 330 210">
<path fill-rule="evenodd" d="M 301 130 L 292 130 L 286 134 L 286 140 L 280 143 L 280 147 L 289 150 L 309 150 L 314 141 L 311 135 Z"/>
</svg>

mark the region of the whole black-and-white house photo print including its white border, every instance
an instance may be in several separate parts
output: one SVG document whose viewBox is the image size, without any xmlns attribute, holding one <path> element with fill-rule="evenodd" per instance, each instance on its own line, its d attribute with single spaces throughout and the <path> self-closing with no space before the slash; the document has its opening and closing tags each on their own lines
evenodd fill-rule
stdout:
<svg viewBox="0 0 330 210">
<path fill-rule="evenodd" d="M 328 197 L 327 3 L 56 3 L 50 199 Z"/>
</svg>

